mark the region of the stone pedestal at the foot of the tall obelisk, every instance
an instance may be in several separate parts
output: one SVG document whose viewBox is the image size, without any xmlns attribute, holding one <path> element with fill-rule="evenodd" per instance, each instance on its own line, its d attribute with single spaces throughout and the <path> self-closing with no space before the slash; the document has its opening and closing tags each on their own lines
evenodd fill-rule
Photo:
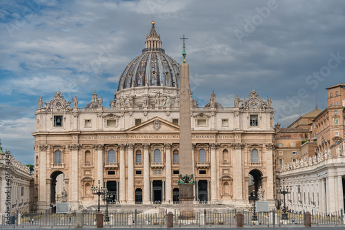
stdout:
<svg viewBox="0 0 345 230">
<path fill-rule="evenodd" d="M 194 184 L 180 184 L 179 185 L 179 220 L 180 222 L 195 221 L 194 207 L 193 207 L 193 188 Z M 183 221 L 184 220 L 184 221 Z M 189 221 L 188 221 L 189 220 Z"/>
</svg>

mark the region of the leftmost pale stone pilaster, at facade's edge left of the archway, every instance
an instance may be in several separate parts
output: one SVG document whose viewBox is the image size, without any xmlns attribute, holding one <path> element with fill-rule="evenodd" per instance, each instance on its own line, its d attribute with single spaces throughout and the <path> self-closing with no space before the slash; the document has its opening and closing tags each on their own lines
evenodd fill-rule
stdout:
<svg viewBox="0 0 345 230">
<path fill-rule="evenodd" d="M 47 168 L 47 149 L 48 145 L 39 146 L 39 200 L 38 209 L 48 209 L 49 200 L 46 197 L 46 168 Z M 50 191 L 50 188 L 48 188 Z"/>
</svg>

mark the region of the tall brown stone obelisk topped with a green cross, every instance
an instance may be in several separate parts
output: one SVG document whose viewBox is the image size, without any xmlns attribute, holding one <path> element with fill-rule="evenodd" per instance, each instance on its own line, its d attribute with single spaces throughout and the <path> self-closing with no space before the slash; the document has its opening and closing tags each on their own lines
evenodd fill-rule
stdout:
<svg viewBox="0 0 345 230">
<path fill-rule="evenodd" d="M 184 39 L 185 37 L 181 38 Z M 184 44 L 184 61 L 180 66 L 179 90 L 179 212 L 181 219 L 194 216 L 193 208 L 193 158 L 192 158 L 192 128 L 190 122 L 190 83 L 189 66 L 186 62 L 186 45 Z"/>
</svg>

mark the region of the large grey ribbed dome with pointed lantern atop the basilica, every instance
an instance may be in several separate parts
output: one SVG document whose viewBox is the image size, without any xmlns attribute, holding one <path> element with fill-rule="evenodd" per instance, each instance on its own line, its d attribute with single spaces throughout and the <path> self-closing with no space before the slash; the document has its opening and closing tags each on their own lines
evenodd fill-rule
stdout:
<svg viewBox="0 0 345 230">
<path fill-rule="evenodd" d="M 146 35 L 145 48 L 121 74 L 117 91 L 141 86 L 167 86 L 179 88 L 179 64 L 161 48 L 160 35 L 152 28 Z"/>
</svg>

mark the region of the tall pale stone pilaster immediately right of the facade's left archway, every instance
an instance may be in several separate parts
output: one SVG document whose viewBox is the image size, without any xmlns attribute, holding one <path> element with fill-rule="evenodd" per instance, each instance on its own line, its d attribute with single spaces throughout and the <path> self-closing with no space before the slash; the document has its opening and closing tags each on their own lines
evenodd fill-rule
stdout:
<svg viewBox="0 0 345 230">
<path fill-rule="evenodd" d="M 73 184 L 73 189 L 71 189 L 71 207 L 72 209 L 76 209 L 79 207 L 78 202 L 78 195 L 79 195 L 79 180 L 78 180 L 78 151 L 80 150 L 81 146 L 80 144 L 70 144 L 68 146 L 70 148 L 70 165 L 72 165 L 70 170 L 70 182 Z"/>
</svg>

